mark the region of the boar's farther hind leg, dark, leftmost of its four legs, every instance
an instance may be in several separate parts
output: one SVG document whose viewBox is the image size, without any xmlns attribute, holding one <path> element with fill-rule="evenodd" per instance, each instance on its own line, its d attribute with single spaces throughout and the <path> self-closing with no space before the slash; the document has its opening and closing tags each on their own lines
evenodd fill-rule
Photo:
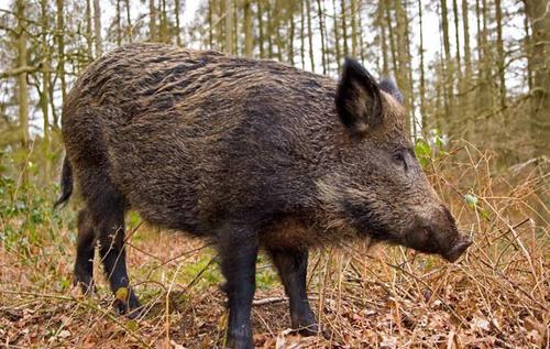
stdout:
<svg viewBox="0 0 550 349">
<path fill-rule="evenodd" d="M 76 246 L 75 284 L 85 295 L 94 292 L 94 252 L 96 232 L 87 209 L 78 214 L 78 240 Z"/>
</svg>

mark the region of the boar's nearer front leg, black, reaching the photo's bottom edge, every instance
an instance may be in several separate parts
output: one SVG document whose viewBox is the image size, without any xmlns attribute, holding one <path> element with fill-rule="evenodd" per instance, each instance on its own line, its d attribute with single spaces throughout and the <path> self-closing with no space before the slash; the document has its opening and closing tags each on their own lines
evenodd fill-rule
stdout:
<svg viewBox="0 0 550 349">
<path fill-rule="evenodd" d="M 229 348 L 253 348 L 251 310 L 255 291 L 258 241 L 249 229 L 226 227 L 219 233 L 221 271 L 227 280 Z"/>
</svg>

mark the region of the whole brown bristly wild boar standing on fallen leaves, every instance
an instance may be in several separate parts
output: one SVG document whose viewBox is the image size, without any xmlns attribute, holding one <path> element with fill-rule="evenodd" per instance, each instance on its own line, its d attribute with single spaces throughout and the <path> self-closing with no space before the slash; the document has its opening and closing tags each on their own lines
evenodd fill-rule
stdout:
<svg viewBox="0 0 550 349">
<path fill-rule="evenodd" d="M 318 331 L 306 293 L 311 248 L 371 239 L 454 261 L 471 241 L 415 157 L 400 99 L 392 81 L 378 84 L 351 58 L 337 84 L 213 51 L 112 51 L 86 68 L 63 109 L 57 205 L 73 178 L 84 201 L 76 282 L 92 286 L 97 241 L 118 309 L 139 308 L 123 246 L 124 214 L 136 210 L 216 243 L 228 343 L 250 348 L 261 248 L 278 269 L 292 326 L 305 335 Z"/>
</svg>

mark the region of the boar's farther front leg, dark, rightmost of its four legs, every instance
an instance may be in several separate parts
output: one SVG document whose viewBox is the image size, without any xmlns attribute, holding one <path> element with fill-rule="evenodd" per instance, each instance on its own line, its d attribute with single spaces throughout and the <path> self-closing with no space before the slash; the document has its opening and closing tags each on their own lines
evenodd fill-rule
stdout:
<svg viewBox="0 0 550 349">
<path fill-rule="evenodd" d="M 308 252 L 270 249 L 270 254 L 289 298 L 293 328 L 304 336 L 316 336 L 318 325 L 306 293 Z"/>
</svg>

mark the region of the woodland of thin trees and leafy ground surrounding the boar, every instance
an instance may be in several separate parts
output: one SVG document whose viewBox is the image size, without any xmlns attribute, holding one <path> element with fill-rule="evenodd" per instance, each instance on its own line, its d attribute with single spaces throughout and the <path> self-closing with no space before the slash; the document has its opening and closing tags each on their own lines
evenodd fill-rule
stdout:
<svg viewBox="0 0 550 349">
<path fill-rule="evenodd" d="M 454 264 L 399 247 L 315 251 L 308 293 L 327 337 L 288 329 L 262 257 L 256 347 L 550 347 L 548 0 L 0 0 L 1 346 L 223 346 L 216 250 L 135 212 L 125 247 L 145 312 L 118 315 L 105 280 L 94 297 L 73 285 L 78 200 L 53 209 L 62 107 L 94 59 L 140 42 L 334 79 L 354 57 L 393 78 L 420 164 L 474 240 Z"/>
</svg>

